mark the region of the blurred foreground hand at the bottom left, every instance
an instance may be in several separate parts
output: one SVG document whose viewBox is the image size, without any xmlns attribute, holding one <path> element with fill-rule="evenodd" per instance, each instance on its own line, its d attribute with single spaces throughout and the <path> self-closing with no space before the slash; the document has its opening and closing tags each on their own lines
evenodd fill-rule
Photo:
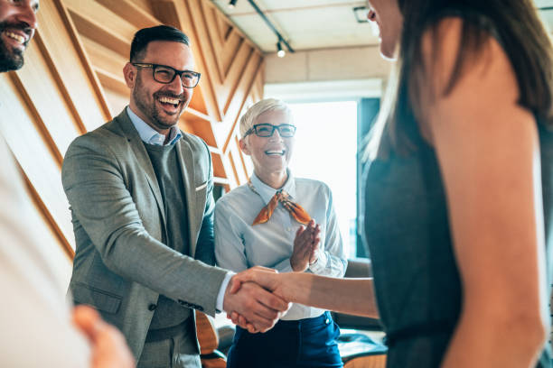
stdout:
<svg viewBox="0 0 553 368">
<path fill-rule="evenodd" d="M 73 324 L 88 339 L 92 352 L 92 368 L 134 368 L 135 358 L 125 337 L 116 327 L 104 322 L 98 312 L 87 306 L 73 309 Z"/>
</svg>

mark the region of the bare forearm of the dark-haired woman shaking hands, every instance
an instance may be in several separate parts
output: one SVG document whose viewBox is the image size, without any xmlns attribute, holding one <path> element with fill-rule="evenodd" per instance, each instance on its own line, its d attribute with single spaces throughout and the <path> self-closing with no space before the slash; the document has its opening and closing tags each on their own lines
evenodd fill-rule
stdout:
<svg viewBox="0 0 553 368">
<path fill-rule="evenodd" d="M 378 318 L 372 279 L 336 279 L 309 273 L 282 273 L 289 301 L 364 317 Z"/>
</svg>

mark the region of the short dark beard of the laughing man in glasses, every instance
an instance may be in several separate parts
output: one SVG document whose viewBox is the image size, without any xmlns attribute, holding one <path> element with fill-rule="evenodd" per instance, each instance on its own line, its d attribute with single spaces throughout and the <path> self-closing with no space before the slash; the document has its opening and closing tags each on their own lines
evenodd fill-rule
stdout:
<svg viewBox="0 0 553 368">
<path fill-rule="evenodd" d="M 136 74 L 136 86 L 133 88 L 133 98 L 135 100 L 136 106 L 146 117 L 150 118 L 151 123 L 154 124 L 156 127 L 160 129 L 169 129 L 173 125 L 178 123 L 179 117 L 183 114 L 183 110 L 188 104 L 183 101 L 181 110 L 177 115 L 170 116 L 169 118 L 163 118 L 162 116 L 160 116 L 157 106 L 155 105 L 155 100 L 158 97 L 162 96 L 178 98 L 182 101 L 185 98 L 183 95 L 175 96 L 170 93 L 155 92 L 155 94 L 151 96 L 151 101 L 148 101 L 148 96 L 145 96 L 145 88 L 143 87 L 140 73 Z M 173 118 L 173 120 L 169 120 L 171 118 Z"/>
</svg>

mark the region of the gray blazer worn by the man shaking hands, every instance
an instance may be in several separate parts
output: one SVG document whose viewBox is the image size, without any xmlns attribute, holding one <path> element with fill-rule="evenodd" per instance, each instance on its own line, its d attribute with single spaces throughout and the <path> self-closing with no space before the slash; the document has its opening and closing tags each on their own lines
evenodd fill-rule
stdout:
<svg viewBox="0 0 553 368">
<path fill-rule="evenodd" d="M 190 228 L 183 243 L 189 243 L 190 254 L 161 243 L 166 224 L 161 192 L 126 110 L 75 139 L 61 171 L 77 243 L 70 292 L 76 304 L 97 308 L 123 332 L 136 359 L 159 294 L 214 315 L 226 274 L 194 259 L 214 263 L 210 152 L 187 133 L 176 145 Z"/>
</svg>

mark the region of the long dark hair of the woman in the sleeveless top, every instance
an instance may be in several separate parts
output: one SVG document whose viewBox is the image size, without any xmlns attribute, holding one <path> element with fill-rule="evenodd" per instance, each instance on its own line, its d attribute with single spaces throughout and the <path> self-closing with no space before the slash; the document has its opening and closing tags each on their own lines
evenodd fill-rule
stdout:
<svg viewBox="0 0 553 368">
<path fill-rule="evenodd" d="M 511 61 L 520 88 L 520 106 L 528 108 L 539 121 L 551 117 L 553 49 L 531 0 L 396 1 L 404 21 L 395 80 L 389 85 L 392 89 L 383 103 L 367 153 L 406 153 L 416 147 L 420 82 L 427 78 L 422 37 L 430 31 L 436 39 L 438 25 L 446 16 L 457 16 L 464 22 L 445 96 L 455 88 L 469 61 L 494 37 Z"/>
</svg>

